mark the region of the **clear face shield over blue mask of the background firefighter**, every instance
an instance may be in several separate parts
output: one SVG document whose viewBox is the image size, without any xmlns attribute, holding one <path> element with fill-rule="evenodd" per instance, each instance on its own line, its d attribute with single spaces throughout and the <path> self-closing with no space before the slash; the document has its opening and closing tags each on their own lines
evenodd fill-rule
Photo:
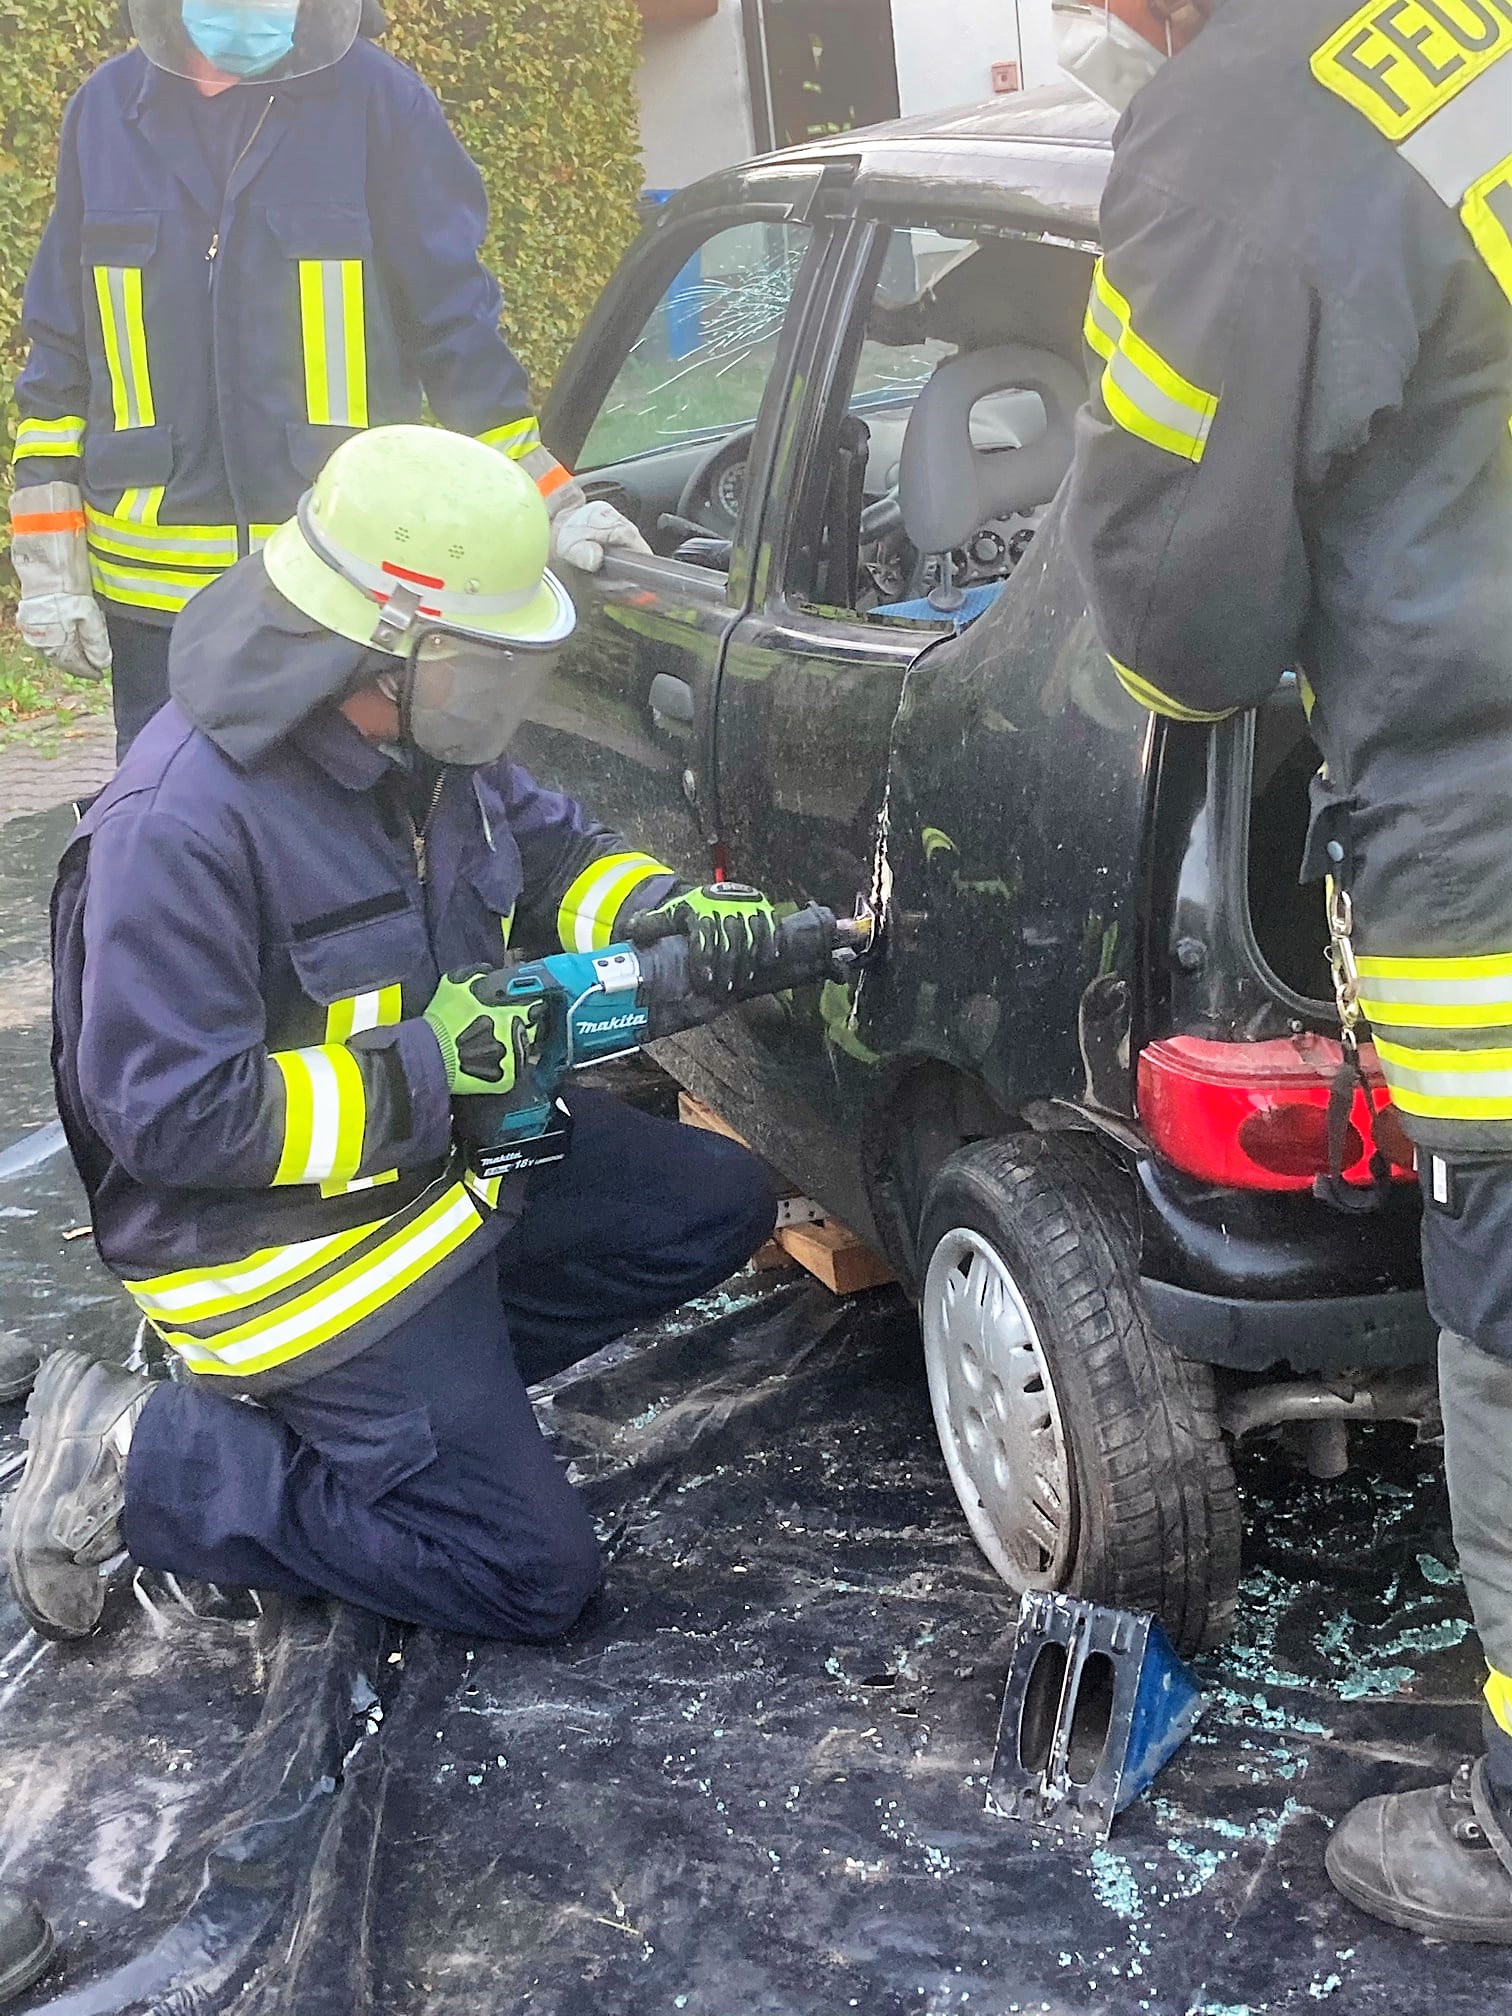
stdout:
<svg viewBox="0 0 1512 2016">
<path fill-rule="evenodd" d="M 143 56 L 173 77 L 308 77 L 357 40 L 363 0 L 129 0 Z"/>
</svg>

